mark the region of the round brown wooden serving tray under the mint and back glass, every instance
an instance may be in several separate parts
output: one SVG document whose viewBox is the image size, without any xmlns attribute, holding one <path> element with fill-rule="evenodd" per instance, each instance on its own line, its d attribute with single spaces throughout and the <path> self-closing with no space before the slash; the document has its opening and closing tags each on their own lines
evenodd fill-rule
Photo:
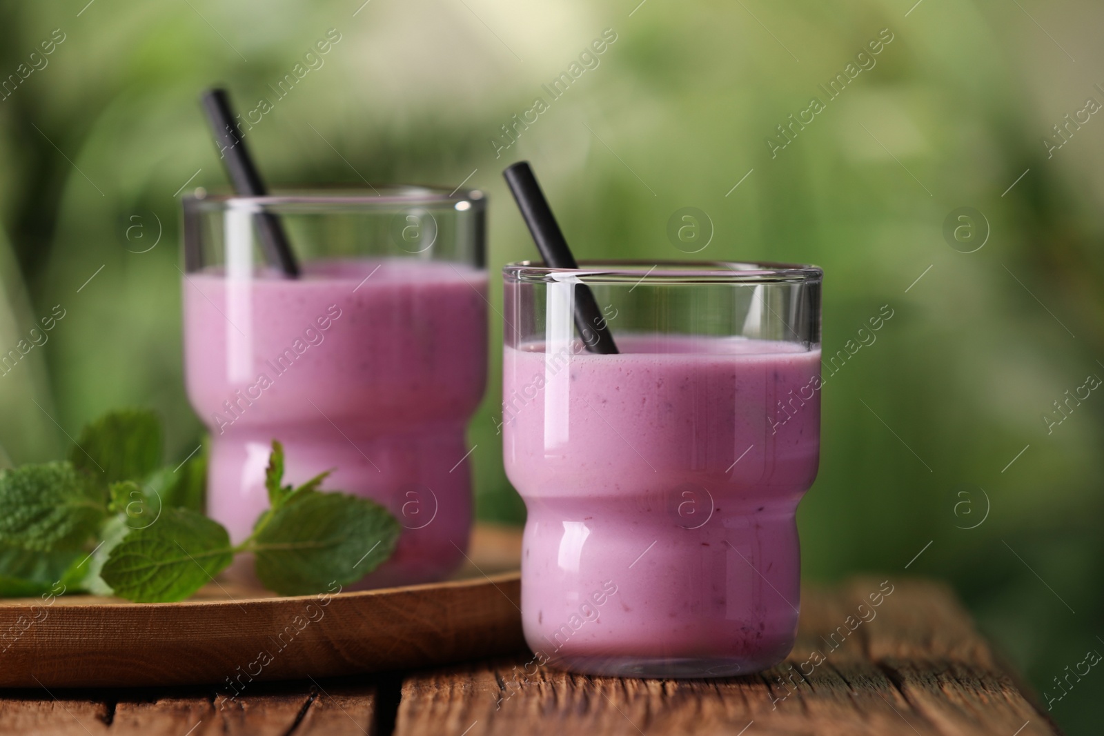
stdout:
<svg viewBox="0 0 1104 736">
<path fill-rule="evenodd" d="M 0 687 L 216 684 L 422 668 L 524 646 L 521 535 L 477 526 L 458 579 L 280 598 L 216 583 L 189 600 L 0 600 Z M 509 572 L 507 572 L 509 570 Z"/>
</svg>

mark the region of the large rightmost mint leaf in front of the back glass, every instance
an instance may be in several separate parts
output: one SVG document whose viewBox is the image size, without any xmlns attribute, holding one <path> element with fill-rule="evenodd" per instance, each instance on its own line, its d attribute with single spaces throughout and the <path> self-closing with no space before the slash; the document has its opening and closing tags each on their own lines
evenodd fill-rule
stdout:
<svg viewBox="0 0 1104 736">
<path fill-rule="evenodd" d="M 400 530 L 386 509 L 368 499 L 300 489 L 262 515 L 247 548 L 266 588 L 307 595 L 375 569 L 391 556 Z"/>
</svg>

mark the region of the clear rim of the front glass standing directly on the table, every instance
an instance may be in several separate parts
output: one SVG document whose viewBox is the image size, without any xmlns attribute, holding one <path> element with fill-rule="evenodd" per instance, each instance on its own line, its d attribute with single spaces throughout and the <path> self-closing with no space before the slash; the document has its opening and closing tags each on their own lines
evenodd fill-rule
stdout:
<svg viewBox="0 0 1104 736">
<path fill-rule="evenodd" d="M 578 268 L 550 268 L 541 260 L 516 260 L 502 278 L 521 284 L 810 284 L 824 279 L 819 266 L 737 260 L 583 260 Z"/>
</svg>

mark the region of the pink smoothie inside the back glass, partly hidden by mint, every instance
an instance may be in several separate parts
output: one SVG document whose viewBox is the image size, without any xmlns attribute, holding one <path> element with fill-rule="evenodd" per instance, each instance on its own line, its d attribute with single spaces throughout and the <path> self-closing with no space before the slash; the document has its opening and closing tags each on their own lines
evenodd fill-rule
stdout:
<svg viewBox="0 0 1104 736">
<path fill-rule="evenodd" d="M 333 469 L 322 490 L 371 498 L 404 526 L 360 587 L 446 577 L 471 523 L 461 458 L 486 383 L 486 271 L 404 259 L 308 263 L 298 280 L 189 274 L 184 367 L 211 429 L 208 513 L 234 542 L 250 534 L 279 439 L 287 482 Z"/>
</svg>

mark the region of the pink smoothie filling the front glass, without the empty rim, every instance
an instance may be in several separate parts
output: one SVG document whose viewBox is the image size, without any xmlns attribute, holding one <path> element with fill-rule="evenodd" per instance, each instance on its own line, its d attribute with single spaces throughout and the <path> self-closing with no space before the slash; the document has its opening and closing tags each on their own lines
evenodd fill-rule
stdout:
<svg viewBox="0 0 1104 736">
<path fill-rule="evenodd" d="M 797 626 L 794 514 L 817 472 L 820 352 L 616 340 L 616 355 L 506 349 L 526 639 L 582 672 L 768 668 Z"/>
</svg>

